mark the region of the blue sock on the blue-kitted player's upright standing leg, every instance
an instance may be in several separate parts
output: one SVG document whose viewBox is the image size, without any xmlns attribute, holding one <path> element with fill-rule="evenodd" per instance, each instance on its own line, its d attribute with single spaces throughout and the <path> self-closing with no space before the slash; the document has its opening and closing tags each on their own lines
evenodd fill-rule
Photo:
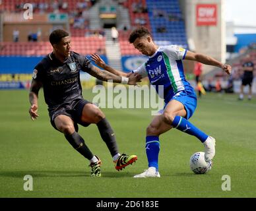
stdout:
<svg viewBox="0 0 256 211">
<path fill-rule="evenodd" d="M 148 158 L 148 167 L 155 167 L 158 171 L 158 154 L 160 151 L 160 142 L 158 136 L 146 136 L 146 156 Z"/>
</svg>

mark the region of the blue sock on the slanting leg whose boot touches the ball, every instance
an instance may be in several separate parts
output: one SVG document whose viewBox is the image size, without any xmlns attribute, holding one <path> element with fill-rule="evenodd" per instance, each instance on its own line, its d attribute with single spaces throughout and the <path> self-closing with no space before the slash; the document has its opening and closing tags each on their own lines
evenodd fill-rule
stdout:
<svg viewBox="0 0 256 211">
<path fill-rule="evenodd" d="M 174 128 L 178 129 L 179 131 L 183 131 L 189 135 L 196 136 L 199 138 L 199 140 L 201 140 L 202 143 L 205 142 L 205 140 L 208 138 L 208 135 L 203 133 L 203 131 L 200 131 L 197 127 L 195 127 L 183 117 L 176 116 L 172 122 L 172 126 L 174 126 Z"/>
</svg>

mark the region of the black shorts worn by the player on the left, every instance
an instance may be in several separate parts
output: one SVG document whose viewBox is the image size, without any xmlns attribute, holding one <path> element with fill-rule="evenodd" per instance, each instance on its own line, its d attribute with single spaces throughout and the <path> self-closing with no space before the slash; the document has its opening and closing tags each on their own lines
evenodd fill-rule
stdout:
<svg viewBox="0 0 256 211">
<path fill-rule="evenodd" d="M 82 125 L 84 127 L 88 127 L 90 123 L 83 123 L 80 119 L 82 116 L 82 109 L 86 104 L 92 104 L 91 102 L 88 102 L 84 99 L 75 100 L 70 103 L 64 103 L 58 106 L 55 109 L 49 109 L 49 117 L 51 121 L 51 125 L 57 130 L 57 127 L 54 123 L 55 117 L 58 115 L 66 115 L 68 117 L 71 117 L 71 119 L 74 121 L 75 131 L 79 131 L 79 127 L 77 124 Z"/>
</svg>

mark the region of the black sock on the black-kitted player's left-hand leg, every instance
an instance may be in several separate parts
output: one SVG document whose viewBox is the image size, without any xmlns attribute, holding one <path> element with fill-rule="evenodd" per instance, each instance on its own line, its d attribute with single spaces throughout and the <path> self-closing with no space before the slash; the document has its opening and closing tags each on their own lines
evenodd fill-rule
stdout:
<svg viewBox="0 0 256 211">
<path fill-rule="evenodd" d="M 69 141 L 69 144 L 77 150 L 84 158 L 87 158 L 88 160 L 91 160 L 93 158 L 92 152 L 90 152 L 89 148 L 84 143 L 84 139 L 77 133 L 74 132 L 71 135 L 65 135 L 65 138 Z"/>
</svg>

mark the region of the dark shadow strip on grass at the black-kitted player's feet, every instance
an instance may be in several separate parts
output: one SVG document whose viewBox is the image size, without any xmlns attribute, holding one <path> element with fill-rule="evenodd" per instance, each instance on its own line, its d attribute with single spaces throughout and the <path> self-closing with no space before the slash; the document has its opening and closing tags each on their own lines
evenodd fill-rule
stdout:
<svg viewBox="0 0 256 211">
<path fill-rule="evenodd" d="M 27 170 L 27 171 L 0 171 L 0 177 L 20 178 L 24 175 L 32 177 L 90 177 L 90 171 L 57 171 L 57 170 Z M 102 171 L 102 177 L 133 177 L 131 172 Z"/>
</svg>

